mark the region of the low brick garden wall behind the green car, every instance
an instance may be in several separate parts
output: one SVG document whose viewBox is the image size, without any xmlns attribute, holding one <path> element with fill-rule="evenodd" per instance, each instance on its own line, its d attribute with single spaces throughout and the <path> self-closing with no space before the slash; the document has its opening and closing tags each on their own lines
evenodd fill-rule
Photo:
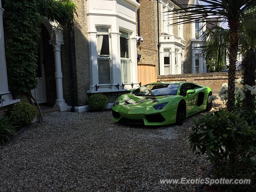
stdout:
<svg viewBox="0 0 256 192">
<path fill-rule="evenodd" d="M 236 72 L 236 79 L 242 78 L 242 72 Z M 218 73 L 197 73 L 180 75 L 160 75 L 157 81 L 186 81 L 208 86 L 215 94 L 218 93 L 223 83 L 228 82 L 228 72 Z"/>
</svg>

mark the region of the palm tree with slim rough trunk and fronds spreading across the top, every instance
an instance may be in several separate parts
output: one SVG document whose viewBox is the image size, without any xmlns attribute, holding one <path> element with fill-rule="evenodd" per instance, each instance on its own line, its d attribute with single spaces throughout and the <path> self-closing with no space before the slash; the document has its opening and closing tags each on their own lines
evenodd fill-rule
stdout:
<svg viewBox="0 0 256 192">
<path fill-rule="evenodd" d="M 211 20 L 214 22 L 228 22 L 228 110 L 234 109 L 235 103 L 235 74 L 236 74 L 236 57 L 238 53 L 239 45 L 239 27 L 240 19 L 252 19 L 255 18 L 255 10 L 252 8 L 256 7 L 255 0 L 200 0 L 207 5 L 184 5 L 180 9 L 173 10 L 171 12 L 183 12 L 185 16 L 182 22 L 176 22 L 173 25 L 179 23 L 193 23 L 195 18 L 199 22 L 205 22 L 206 18 L 216 18 L 216 20 Z M 252 12 L 248 12 L 252 10 Z M 220 19 L 219 19 L 220 18 Z M 175 19 L 175 16 L 173 17 Z"/>
</svg>

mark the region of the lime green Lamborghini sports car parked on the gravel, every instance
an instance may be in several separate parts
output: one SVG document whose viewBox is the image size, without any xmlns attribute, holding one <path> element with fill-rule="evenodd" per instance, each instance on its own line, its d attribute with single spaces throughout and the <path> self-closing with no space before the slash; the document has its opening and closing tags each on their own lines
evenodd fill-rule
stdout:
<svg viewBox="0 0 256 192">
<path fill-rule="evenodd" d="M 212 109 L 209 87 L 189 82 L 155 82 L 121 95 L 112 106 L 115 122 L 166 125 Z"/>
</svg>

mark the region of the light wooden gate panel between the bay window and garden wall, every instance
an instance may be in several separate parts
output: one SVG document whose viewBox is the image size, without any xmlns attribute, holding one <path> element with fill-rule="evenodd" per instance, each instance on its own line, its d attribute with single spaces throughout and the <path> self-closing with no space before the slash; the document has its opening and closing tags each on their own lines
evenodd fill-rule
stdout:
<svg viewBox="0 0 256 192">
<path fill-rule="evenodd" d="M 138 64 L 138 82 L 142 86 L 156 82 L 156 66 L 153 64 Z"/>
</svg>

